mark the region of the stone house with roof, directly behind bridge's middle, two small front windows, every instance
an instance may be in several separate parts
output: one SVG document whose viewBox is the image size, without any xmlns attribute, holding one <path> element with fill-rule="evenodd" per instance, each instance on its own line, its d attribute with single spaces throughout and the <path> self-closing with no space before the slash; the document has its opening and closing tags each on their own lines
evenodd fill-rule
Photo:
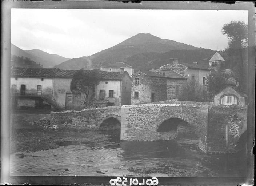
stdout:
<svg viewBox="0 0 256 186">
<path fill-rule="evenodd" d="M 152 69 L 132 75 L 131 104 L 146 104 L 176 98 L 186 77 L 173 70 Z"/>
</svg>

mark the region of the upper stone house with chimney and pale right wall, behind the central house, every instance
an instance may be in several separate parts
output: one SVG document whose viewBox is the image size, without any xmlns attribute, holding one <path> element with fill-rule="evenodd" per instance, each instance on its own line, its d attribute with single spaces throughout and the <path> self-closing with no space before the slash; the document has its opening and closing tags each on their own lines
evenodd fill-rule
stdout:
<svg viewBox="0 0 256 186">
<path fill-rule="evenodd" d="M 189 63 L 179 63 L 178 58 L 170 58 L 172 63 L 167 65 L 161 66 L 160 70 L 173 70 L 185 77 L 187 80 L 195 80 L 200 85 L 204 85 L 206 82 L 206 77 L 210 73 L 209 65 L 208 64 L 201 64 L 194 62 L 192 64 Z"/>
</svg>

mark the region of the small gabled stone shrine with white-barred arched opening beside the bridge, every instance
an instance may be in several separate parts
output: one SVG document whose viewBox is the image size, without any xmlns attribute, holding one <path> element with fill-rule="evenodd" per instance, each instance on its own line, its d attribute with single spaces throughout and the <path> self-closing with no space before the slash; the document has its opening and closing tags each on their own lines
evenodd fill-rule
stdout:
<svg viewBox="0 0 256 186">
<path fill-rule="evenodd" d="M 236 86 L 227 86 L 214 96 L 215 105 L 247 105 L 247 95 Z"/>
</svg>

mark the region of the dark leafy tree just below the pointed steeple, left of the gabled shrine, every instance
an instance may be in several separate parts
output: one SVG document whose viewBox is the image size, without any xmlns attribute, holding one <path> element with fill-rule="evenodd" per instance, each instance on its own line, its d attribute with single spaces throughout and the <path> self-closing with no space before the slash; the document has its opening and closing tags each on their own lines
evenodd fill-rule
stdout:
<svg viewBox="0 0 256 186">
<path fill-rule="evenodd" d="M 215 94 L 219 93 L 227 86 L 227 78 L 227 75 L 220 71 L 211 73 L 206 77 L 205 85 L 211 100 Z"/>
</svg>

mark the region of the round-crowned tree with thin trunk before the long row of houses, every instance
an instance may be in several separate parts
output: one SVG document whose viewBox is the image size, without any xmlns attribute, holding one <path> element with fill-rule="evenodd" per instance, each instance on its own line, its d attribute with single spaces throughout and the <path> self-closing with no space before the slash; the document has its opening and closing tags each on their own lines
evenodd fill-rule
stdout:
<svg viewBox="0 0 256 186">
<path fill-rule="evenodd" d="M 99 85 L 98 70 L 81 69 L 73 75 L 72 81 L 70 83 L 70 90 L 72 92 L 85 93 L 87 107 L 88 96 L 97 85 Z"/>
</svg>

